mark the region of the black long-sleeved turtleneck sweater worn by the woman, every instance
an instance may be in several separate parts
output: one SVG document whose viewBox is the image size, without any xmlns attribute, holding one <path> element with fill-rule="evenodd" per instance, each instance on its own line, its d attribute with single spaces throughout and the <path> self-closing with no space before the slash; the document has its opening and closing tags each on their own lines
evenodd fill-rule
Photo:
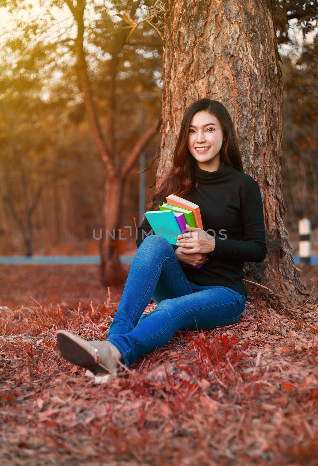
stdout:
<svg viewBox="0 0 318 466">
<path fill-rule="evenodd" d="M 215 247 L 202 267 L 182 267 L 180 263 L 182 270 L 197 285 L 226 286 L 247 296 L 242 282 L 243 262 L 262 262 L 267 254 L 258 183 L 223 162 L 216 171 L 202 170 L 195 164 L 194 177 L 198 187 L 187 199 L 200 206 L 203 230 L 215 235 Z M 150 232 L 154 234 L 144 218 L 138 227 L 137 247 Z M 176 250 L 178 246 L 172 247 Z"/>
</svg>

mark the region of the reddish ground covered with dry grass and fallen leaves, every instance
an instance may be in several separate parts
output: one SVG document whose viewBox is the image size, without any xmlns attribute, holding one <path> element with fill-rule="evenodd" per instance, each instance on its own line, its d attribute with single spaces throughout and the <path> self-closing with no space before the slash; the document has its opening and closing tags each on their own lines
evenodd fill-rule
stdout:
<svg viewBox="0 0 318 466">
<path fill-rule="evenodd" d="M 67 266 L 55 283 L 44 266 L 21 267 L 1 267 L 1 465 L 318 464 L 314 301 L 283 313 L 263 291 L 249 295 L 236 324 L 180 330 L 96 384 L 62 358 L 55 331 L 104 339 L 120 290 L 99 289 L 97 267 Z M 88 288 L 97 301 L 75 305 Z"/>
</svg>

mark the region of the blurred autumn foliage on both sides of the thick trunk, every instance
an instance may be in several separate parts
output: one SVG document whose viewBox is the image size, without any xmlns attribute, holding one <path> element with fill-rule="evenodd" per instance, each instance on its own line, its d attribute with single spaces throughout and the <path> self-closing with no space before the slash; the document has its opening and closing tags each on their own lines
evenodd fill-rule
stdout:
<svg viewBox="0 0 318 466">
<path fill-rule="evenodd" d="M 10 34 L 2 36 L 0 50 L 0 254 L 24 253 L 23 229 L 34 230 L 41 250 L 48 242 L 90 239 L 93 228 L 101 227 L 104 165 L 85 115 L 69 5 L 85 7 L 91 93 L 104 136 L 114 136 L 114 158 L 120 163 L 140 137 L 142 125 L 144 130 L 149 127 L 161 110 L 163 48 L 156 29 L 162 28 L 163 14 L 153 15 L 157 2 L 146 3 L 39 0 L 37 6 L 29 0 L 0 0 L 0 7 L 12 14 Z M 277 41 L 290 45 L 288 55 L 282 55 L 284 187 L 298 177 L 302 188 L 298 199 L 286 188 L 285 203 L 290 216 L 294 211 L 309 215 L 317 193 L 310 175 L 317 173 L 317 37 L 299 51 L 288 35 L 288 21 L 296 21 L 304 34 L 313 30 L 317 2 L 277 0 L 273 5 Z M 129 37 L 131 28 L 123 30 L 120 16 L 125 14 L 137 24 Z M 146 166 L 158 143 L 159 137 L 149 144 Z M 146 185 L 154 176 L 154 170 L 146 172 Z M 125 190 L 122 225 L 133 226 L 138 174 L 129 177 Z M 146 198 L 149 195 L 146 192 Z M 30 218 L 35 200 L 36 214 Z"/>
</svg>

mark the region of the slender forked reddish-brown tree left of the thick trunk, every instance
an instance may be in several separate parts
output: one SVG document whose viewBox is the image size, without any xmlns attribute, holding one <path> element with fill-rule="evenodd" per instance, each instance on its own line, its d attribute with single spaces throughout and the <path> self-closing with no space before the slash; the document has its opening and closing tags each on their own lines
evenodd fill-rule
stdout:
<svg viewBox="0 0 318 466">
<path fill-rule="evenodd" d="M 107 175 L 104 183 L 104 203 L 103 203 L 103 226 L 104 234 L 101 238 L 101 276 L 105 286 L 109 284 L 120 284 L 122 282 L 122 266 L 119 260 L 118 252 L 120 251 L 120 242 L 118 235 L 120 206 L 123 201 L 124 182 L 127 175 L 131 171 L 134 163 L 138 159 L 140 152 L 148 144 L 149 140 L 156 134 L 159 128 L 159 122 L 155 122 L 146 130 L 142 137 L 132 147 L 124 164 L 118 164 L 116 154 L 114 152 L 114 120 L 115 116 L 115 92 L 116 92 L 116 76 L 118 74 L 118 54 L 122 54 L 124 47 L 124 35 L 118 34 L 117 40 L 112 42 L 112 46 L 108 48 L 111 53 L 111 82 L 109 96 L 109 113 L 108 113 L 108 129 L 107 139 L 104 137 L 101 129 L 99 117 L 92 98 L 90 80 L 88 74 L 88 65 L 84 50 L 84 11 L 86 0 L 66 0 L 66 3 L 74 16 L 77 27 L 77 35 L 75 40 L 75 50 L 77 59 L 77 73 L 80 80 L 80 87 L 84 95 L 84 104 L 87 117 L 90 122 L 92 134 L 97 146 L 100 157 L 102 158 Z M 134 14 L 137 5 L 133 5 L 131 13 Z M 106 10 L 105 10 L 106 13 Z M 100 24 L 96 25 L 97 27 Z M 110 236 L 108 236 L 110 232 Z M 111 235 L 116 233 L 114 240 Z"/>
</svg>

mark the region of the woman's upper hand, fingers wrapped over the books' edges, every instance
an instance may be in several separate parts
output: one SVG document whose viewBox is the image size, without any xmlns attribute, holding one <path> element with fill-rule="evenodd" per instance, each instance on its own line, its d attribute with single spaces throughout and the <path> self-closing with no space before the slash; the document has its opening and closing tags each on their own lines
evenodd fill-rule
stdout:
<svg viewBox="0 0 318 466">
<path fill-rule="evenodd" d="M 181 248 L 180 252 L 184 254 L 208 254 L 214 251 L 214 236 L 202 230 L 202 228 L 189 226 L 187 223 L 186 228 L 190 233 L 183 233 L 183 235 L 180 234 L 176 237 L 177 246 Z"/>
</svg>

